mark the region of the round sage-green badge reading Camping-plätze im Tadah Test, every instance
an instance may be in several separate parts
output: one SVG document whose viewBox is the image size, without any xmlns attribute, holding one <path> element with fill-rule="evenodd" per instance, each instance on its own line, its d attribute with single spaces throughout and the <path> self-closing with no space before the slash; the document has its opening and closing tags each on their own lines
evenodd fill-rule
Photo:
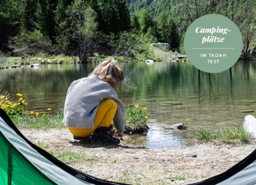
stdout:
<svg viewBox="0 0 256 185">
<path fill-rule="evenodd" d="M 222 15 L 197 18 L 184 35 L 184 51 L 199 70 L 216 73 L 233 66 L 243 48 L 237 25 Z"/>
</svg>

